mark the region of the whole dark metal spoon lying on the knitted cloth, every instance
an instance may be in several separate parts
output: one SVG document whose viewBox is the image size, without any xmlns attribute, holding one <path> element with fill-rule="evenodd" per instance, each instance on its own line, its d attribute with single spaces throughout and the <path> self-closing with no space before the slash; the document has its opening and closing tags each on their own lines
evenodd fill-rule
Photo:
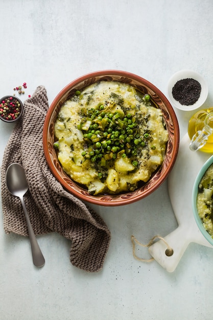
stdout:
<svg viewBox="0 0 213 320">
<path fill-rule="evenodd" d="M 6 172 L 6 184 L 9 192 L 14 196 L 19 197 L 21 200 L 21 204 L 23 207 L 23 211 L 25 212 L 25 217 L 28 225 L 28 233 L 31 243 L 33 263 L 36 267 L 42 267 L 45 263 L 45 260 L 41 253 L 35 234 L 33 232 L 32 224 L 29 219 L 25 202 L 23 201 L 23 195 L 26 194 L 29 188 L 28 181 L 25 175 L 25 170 L 16 163 L 11 164 Z"/>
</svg>

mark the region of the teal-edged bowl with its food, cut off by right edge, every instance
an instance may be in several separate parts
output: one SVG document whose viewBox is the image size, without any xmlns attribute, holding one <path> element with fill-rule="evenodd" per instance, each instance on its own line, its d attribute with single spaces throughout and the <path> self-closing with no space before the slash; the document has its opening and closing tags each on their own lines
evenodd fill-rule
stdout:
<svg viewBox="0 0 213 320">
<path fill-rule="evenodd" d="M 192 193 L 195 220 L 202 235 L 213 245 L 213 156 L 199 171 Z"/>
</svg>

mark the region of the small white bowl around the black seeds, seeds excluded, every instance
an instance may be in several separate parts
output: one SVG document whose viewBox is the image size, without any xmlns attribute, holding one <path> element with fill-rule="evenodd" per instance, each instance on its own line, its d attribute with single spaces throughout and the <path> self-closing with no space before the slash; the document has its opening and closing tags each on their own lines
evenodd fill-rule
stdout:
<svg viewBox="0 0 213 320">
<path fill-rule="evenodd" d="M 177 81 L 183 80 L 183 79 L 188 79 L 188 78 L 190 78 L 190 79 L 192 78 L 194 80 L 197 80 L 200 83 L 201 93 L 200 93 L 199 99 L 194 104 L 182 105 L 179 101 L 174 99 L 174 97 L 172 95 L 172 89 Z M 206 98 L 208 96 L 208 86 L 207 86 L 207 83 L 204 80 L 204 78 L 200 74 L 198 74 L 197 72 L 192 71 L 192 70 L 181 70 L 181 71 L 176 72 L 170 78 L 169 83 L 168 83 L 168 95 L 169 95 L 170 102 L 173 106 L 175 106 L 176 108 L 178 108 L 180 110 L 191 111 L 191 110 L 195 110 L 195 109 L 199 108 L 200 106 L 202 106 L 204 104 L 204 102 L 206 101 Z"/>
</svg>

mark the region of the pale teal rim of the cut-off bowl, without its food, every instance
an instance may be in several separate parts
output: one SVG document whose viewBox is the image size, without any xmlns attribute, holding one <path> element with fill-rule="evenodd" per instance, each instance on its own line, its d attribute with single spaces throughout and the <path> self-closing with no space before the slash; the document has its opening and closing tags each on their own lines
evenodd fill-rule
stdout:
<svg viewBox="0 0 213 320">
<path fill-rule="evenodd" d="M 197 222 L 197 225 L 202 233 L 202 235 L 206 238 L 206 240 L 213 245 L 213 239 L 209 235 L 209 233 L 205 230 L 202 220 L 198 214 L 198 209 L 197 209 L 197 196 L 198 196 L 198 186 L 200 184 L 200 181 L 205 174 L 206 170 L 210 167 L 210 165 L 213 163 L 213 155 L 205 162 L 203 167 L 201 168 L 200 172 L 198 173 L 194 186 L 193 186 L 193 191 L 192 191 L 192 208 L 193 208 L 193 213 L 195 220 Z"/>
</svg>

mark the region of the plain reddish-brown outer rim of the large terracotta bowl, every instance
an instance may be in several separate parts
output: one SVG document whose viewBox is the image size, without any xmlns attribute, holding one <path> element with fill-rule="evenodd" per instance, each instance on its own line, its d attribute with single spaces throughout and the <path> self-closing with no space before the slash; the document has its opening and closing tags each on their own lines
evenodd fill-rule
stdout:
<svg viewBox="0 0 213 320">
<path fill-rule="evenodd" d="M 160 178 L 157 180 L 156 184 L 148 190 L 144 190 L 143 193 L 137 193 L 136 195 L 131 196 L 132 193 L 124 193 L 123 195 L 130 195 L 127 198 L 122 198 L 122 194 L 119 194 L 117 196 L 111 196 L 111 195 L 106 195 L 106 198 L 113 198 L 112 201 L 110 200 L 101 200 L 99 199 L 97 196 L 92 196 L 92 195 L 83 195 L 80 194 L 79 192 L 77 192 L 76 190 L 72 189 L 72 187 L 69 187 L 66 185 L 66 183 L 64 182 L 63 178 L 60 176 L 60 174 L 55 170 L 55 166 L 53 165 L 50 153 L 49 153 L 49 148 L 48 148 L 48 132 L 50 129 L 50 120 L 52 117 L 52 113 L 55 110 L 56 106 L 58 105 L 60 99 L 67 93 L 69 92 L 69 90 L 71 90 L 73 87 L 77 86 L 78 83 L 81 83 L 82 81 L 85 81 L 87 79 L 90 79 L 92 77 L 100 77 L 100 76 L 123 76 L 124 78 L 130 78 L 132 80 L 138 81 L 139 83 L 141 83 L 141 85 L 146 85 L 147 87 L 149 87 L 151 90 L 153 90 L 153 92 L 160 98 L 160 100 L 163 102 L 163 104 L 166 106 L 169 115 L 172 119 L 173 122 L 173 126 L 175 128 L 174 130 L 174 145 L 173 145 L 173 152 L 172 152 L 172 157 L 170 160 L 170 163 L 167 167 L 167 169 L 165 170 L 165 172 L 163 172 L 163 174 L 160 176 Z M 119 81 L 119 80 L 118 80 Z M 125 83 L 125 81 L 124 81 Z M 71 194 L 73 194 L 74 196 L 76 196 L 77 198 L 89 202 L 89 203 L 93 203 L 93 204 L 97 204 L 97 205 L 103 205 L 105 207 L 115 207 L 118 205 L 126 205 L 126 204 L 130 204 L 133 202 L 136 202 L 140 199 L 145 198 L 146 196 L 148 196 L 149 194 L 153 193 L 157 188 L 160 187 L 160 185 L 163 183 L 163 181 L 167 178 L 168 174 L 170 173 L 170 171 L 172 170 L 176 158 L 177 158 L 177 154 L 178 154 L 178 149 L 179 149 L 179 124 L 178 124 L 178 120 L 175 114 L 175 111 L 171 105 L 171 103 L 169 102 L 169 100 L 164 96 L 164 94 L 151 82 L 149 82 L 148 80 L 141 78 L 140 76 L 137 76 L 133 73 L 130 72 L 126 72 L 126 71 L 120 71 L 120 70 L 101 70 L 101 71 L 95 71 L 95 72 L 91 72 L 91 73 L 87 73 L 83 76 L 80 76 L 78 78 L 76 78 L 75 80 L 69 82 L 59 93 L 58 95 L 55 97 L 55 99 L 53 100 L 53 102 L 51 103 L 48 112 L 46 113 L 46 117 L 44 120 L 44 126 L 43 126 L 43 151 L 44 151 L 44 156 L 46 158 L 46 162 L 48 163 L 48 166 L 51 170 L 51 172 L 53 173 L 53 175 L 56 177 L 56 179 L 60 182 L 60 184 L 64 187 L 64 189 L 66 189 L 68 192 L 70 192 Z M 159 170 L 157 170 L 158 172 Z M 68 176 L 67 176 L 68 177 Z M 69 177 L 68 177 L 69 178 Z M 70 178 L 69 178 L 70 179 Z M 72 180 L 72 179 L 71 179 Z M 72 180 L 73 181 L 73 180 Z M 76 184 L 75 181 L 73 181 L 74 184 Z M 147 184 L 149 184 L 149 181 L 147 182 Z M 139 188 L 140 189 L 140 188 Z M 133 192 L 134 193 L 134 192 Z M 102 197 L 104 198 L 104 195 L 102 195 Z"/>
</svg>

